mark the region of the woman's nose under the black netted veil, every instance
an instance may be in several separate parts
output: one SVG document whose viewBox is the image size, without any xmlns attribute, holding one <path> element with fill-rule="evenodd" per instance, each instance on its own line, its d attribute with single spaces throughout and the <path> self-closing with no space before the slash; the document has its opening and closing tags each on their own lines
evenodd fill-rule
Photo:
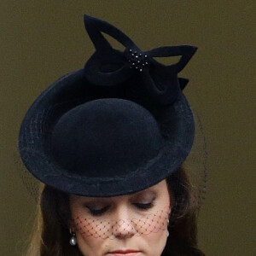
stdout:
<svg viewBox="0 0 256 256">
<path fill-rule="evenodd" d="M 128 209 L 118 210 L 113 219 L 112 235 L 119 239 L 130 238 L 137 230 Z"/>
</svg>

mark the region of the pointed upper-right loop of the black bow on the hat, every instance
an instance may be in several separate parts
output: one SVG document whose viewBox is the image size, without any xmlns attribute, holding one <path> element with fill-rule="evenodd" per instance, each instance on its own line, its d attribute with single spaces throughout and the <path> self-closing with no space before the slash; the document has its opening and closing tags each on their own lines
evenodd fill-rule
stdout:
<svg viewBox="0 0 256 256">
<path fill-rule="evenodd" d="M 193 45 L 177 45 L 177 46 L 163 46 L 160 48 L 148 51 L 148 55 L 152 57 L 171 57 L 181 56 L 177 63 L 166 66 L 172 73 L 179 73 L 187 65 L 189 60 L 195 55 L 197 47 Z"/>
</svg>

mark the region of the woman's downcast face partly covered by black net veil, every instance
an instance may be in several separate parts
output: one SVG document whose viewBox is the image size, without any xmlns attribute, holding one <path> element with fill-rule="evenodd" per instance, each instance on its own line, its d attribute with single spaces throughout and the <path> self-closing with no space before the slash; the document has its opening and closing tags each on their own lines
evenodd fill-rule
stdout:
<svg viewBox="0 0 256 256">
<path fill-rule="evenodd" d="M 171 202 L 166 180 L 131 195 L 70 195 L 73 231 L 81 253 L 84 256 L 160 256 L 166 246 Z M 137 253 L 125 253 L 125 250 Z"/>
</svg>

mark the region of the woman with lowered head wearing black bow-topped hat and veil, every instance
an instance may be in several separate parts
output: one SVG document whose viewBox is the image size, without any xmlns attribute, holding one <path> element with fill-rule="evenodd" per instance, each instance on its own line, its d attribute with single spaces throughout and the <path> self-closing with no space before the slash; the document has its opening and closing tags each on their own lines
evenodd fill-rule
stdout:
<svg viewBox="0 0 256 256">
<path fill-rule="evenodd" d="M 20 126 L 20 157 L 45 184 L 27 255 L 204 255 L 183 162 L 195 136 L 177 73 L 196 48 L 142 51 L 84 15 L 96 52 L 49 86 Z M 107 33 L 125 46 L 113 49 Z M 182 55 L 168 67 L 154 57 Z"/>
</svg>

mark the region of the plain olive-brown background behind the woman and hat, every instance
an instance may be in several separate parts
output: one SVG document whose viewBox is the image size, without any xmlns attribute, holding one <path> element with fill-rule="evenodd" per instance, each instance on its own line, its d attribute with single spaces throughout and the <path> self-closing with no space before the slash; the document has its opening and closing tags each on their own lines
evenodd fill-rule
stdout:
<svg viewBox="0 0 256 256">
<path fill-rule="evenodd" d="M 15 177 L 20 122 L 41 91 L 93 53 L 84 32 L 88 14 L 141 49 L 198 46 L 180 76 L 190 79 L 184 93 L 200 113 L 209 153 L 200 247 L 207 255 L 255 255 L 254 2 L 2 0 L 0 254 L 20 255 L 35 208 Z"/>
</svg>

